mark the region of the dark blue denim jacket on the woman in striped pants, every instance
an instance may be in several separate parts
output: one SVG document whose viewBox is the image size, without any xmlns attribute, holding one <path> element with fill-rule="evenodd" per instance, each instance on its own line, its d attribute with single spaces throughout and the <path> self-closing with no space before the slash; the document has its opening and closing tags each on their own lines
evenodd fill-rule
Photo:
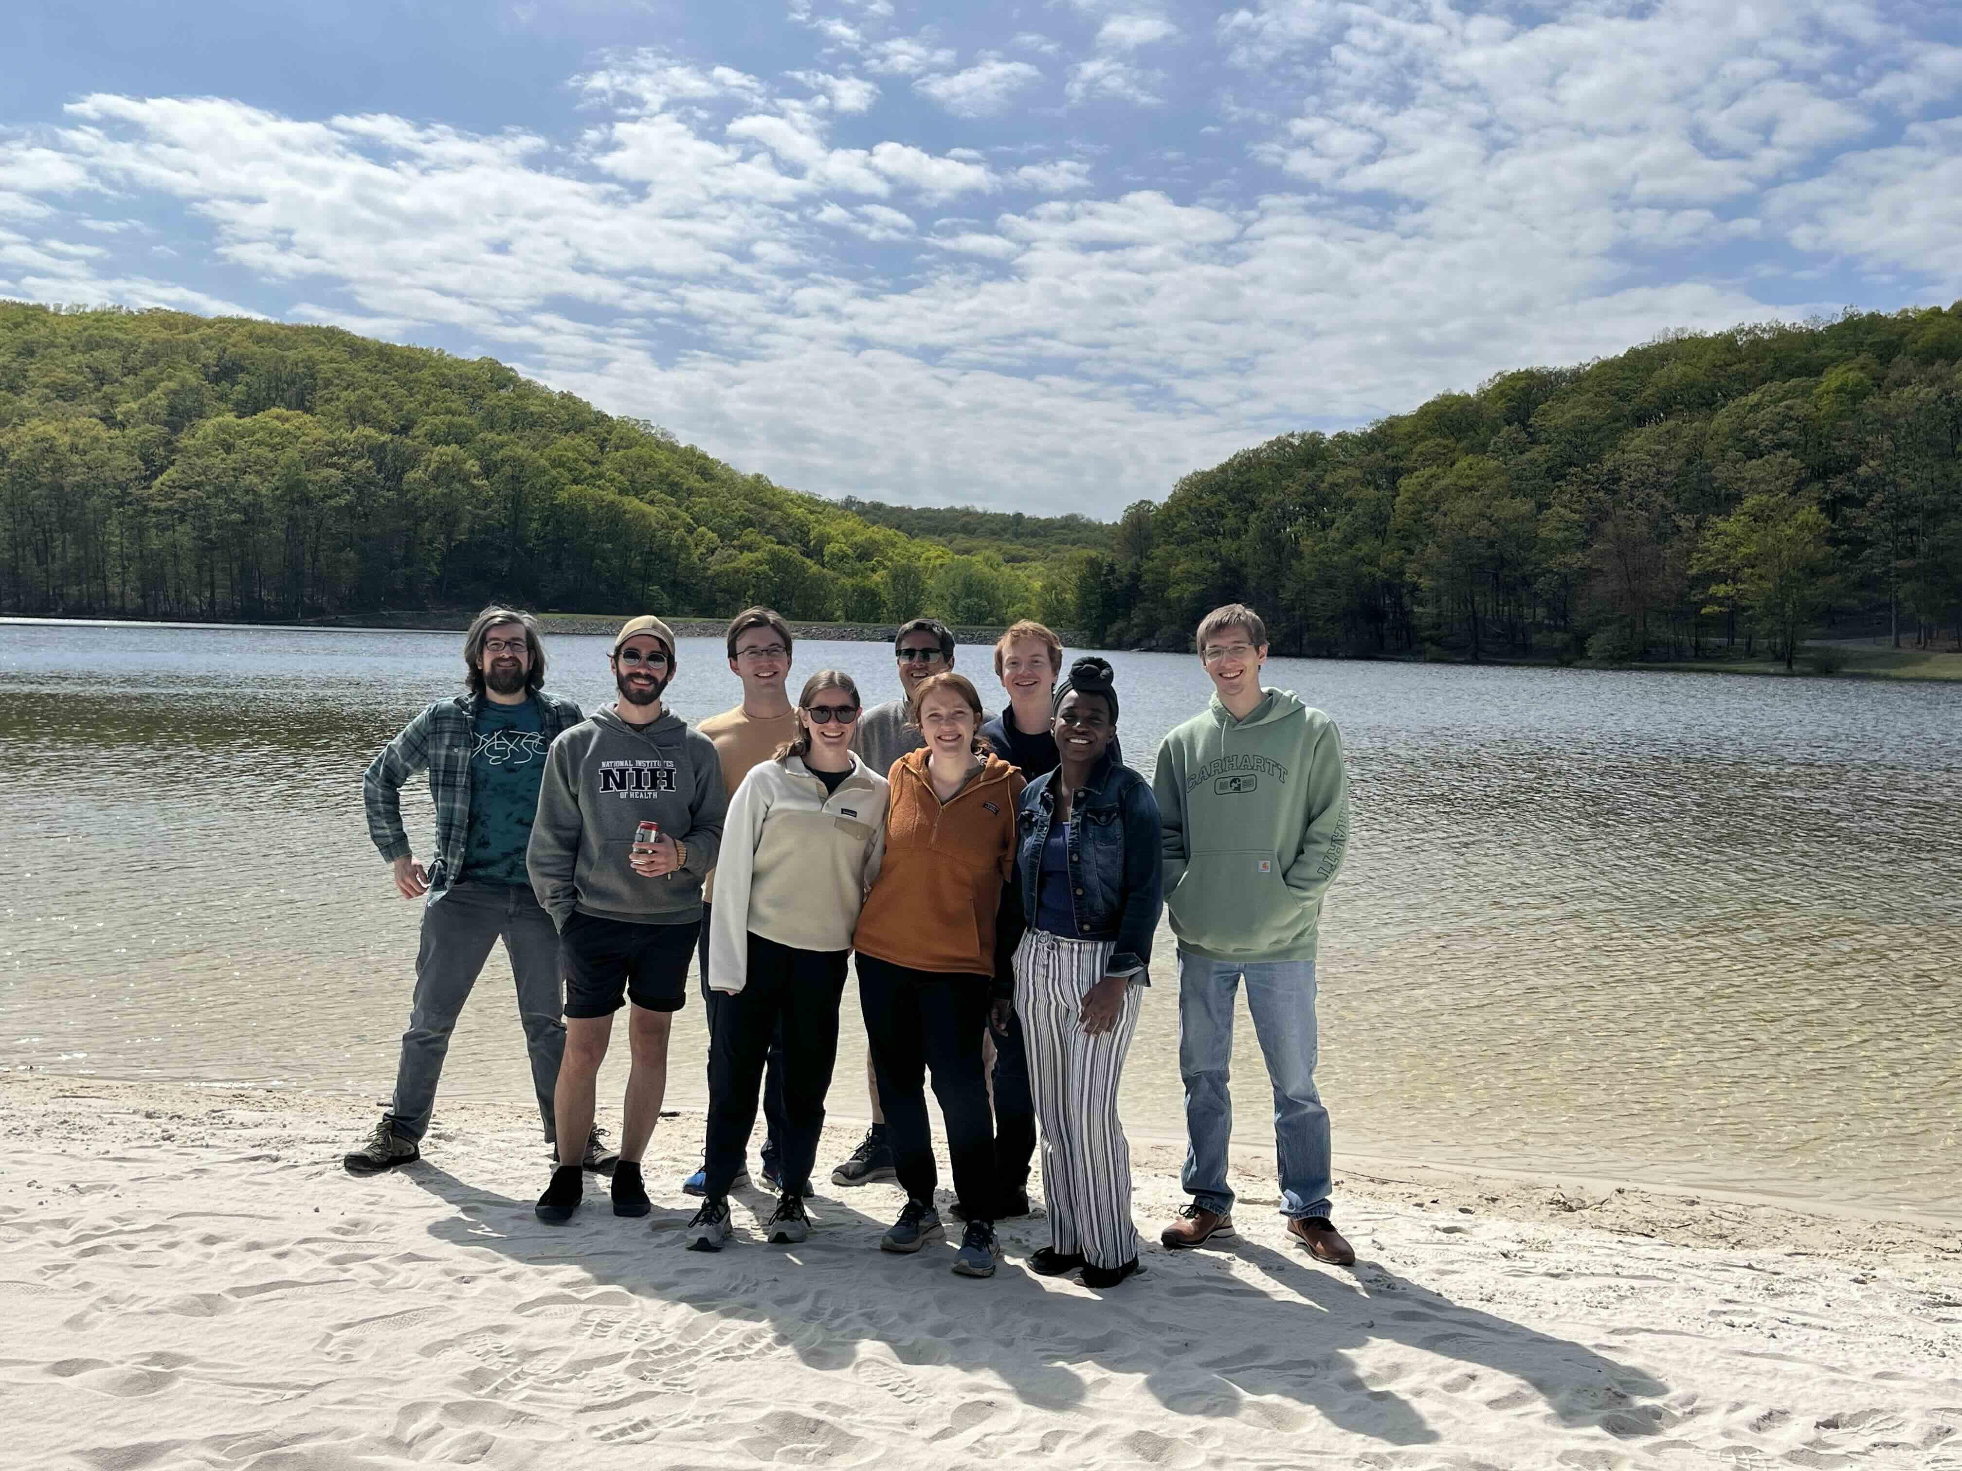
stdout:
<svg viewBox="0 0 1962 1471">
<path fill-rule="evenodd" d="M 1036 920 L 1042 845 L 1050 841 L 1052 788 L 1059 779 L 1061 767 L 1028 783 L 1016 812 L 1016 888 L 1028 924 Z M 1112 975 L 1142 971 L 1152 961 L 1152 934 L 1165 898 L 1152 785 L 1105 753 L 1089 785 L 1077 790 L 1069 816 L 1069 902 L 1077 934 L 1116 941 Z"/>
</svg>

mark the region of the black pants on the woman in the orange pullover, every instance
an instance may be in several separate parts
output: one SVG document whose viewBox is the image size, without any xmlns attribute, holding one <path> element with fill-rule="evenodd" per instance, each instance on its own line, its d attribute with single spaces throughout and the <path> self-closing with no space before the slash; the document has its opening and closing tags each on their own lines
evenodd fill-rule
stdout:
<svg viewBox="0 0 1962 1471">
<path fill-rule="evenodd" d="M 934 1096 L 948 1124 L 954 1192 L 969 1220 L 995 1220 L 1001 1208 L 995 1120 L 981 1071 L 989 1004 L 987 977 L 912 971 L 859 955 L 859 1006 L 899 1183 L 914 1200 L 932 1204 L 940 1183 L 926 1118 L 926 1071 L 932 1069 Z"/>
</svg>

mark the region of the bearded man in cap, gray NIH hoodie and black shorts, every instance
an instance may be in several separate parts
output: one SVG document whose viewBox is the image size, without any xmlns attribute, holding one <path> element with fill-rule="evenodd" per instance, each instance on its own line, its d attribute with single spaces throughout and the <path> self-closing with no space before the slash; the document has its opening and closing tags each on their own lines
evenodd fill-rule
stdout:
<svg viewBox="0 0 1962 1471">
<path fill-rule="evenodd" d="M 667 1092 L 667 1034 L 687 1000 L 702 875 L 716 867 L 728 792 L 714 743 L 661 706 L 675 677 L 673 630 L 651 614 L 628 620 L 610 663 L 620 698 L 551 743 L 526 869 L 559 926 L 565 971 L 559 1138 L 587 1138 L 612 1014 L 626 1004 L 632 1067 L 612 1206 L 616 1216 L 645 1216 L 640 1161 Z M 636 841 L 644 822 L 659 828 L 651 841 Z M 563 1222 L 579 1208 L 583 1181 L 569 1149 L 561 1145 L 538 1198 L 540 1220 Z"/>
</svg>

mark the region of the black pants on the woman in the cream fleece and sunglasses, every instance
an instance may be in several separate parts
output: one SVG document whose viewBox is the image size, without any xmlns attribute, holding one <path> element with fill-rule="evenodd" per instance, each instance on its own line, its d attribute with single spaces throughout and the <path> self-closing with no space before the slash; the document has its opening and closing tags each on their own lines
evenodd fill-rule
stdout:
<svg viewBox="0 0 1962 1471">
<path fill-rule="evenodd" d="M 810 1179 L 824 1130 L 824 1094 L 838 1061 L 838 1000 L 846 990 L 844 949 L 791 949 L 749 936 L 749 977 L 734 996 L 716 992 L 708 1040 L 708 1179 L 716 1200 L 749 1153 L 763 1059 L 783 1038 L 783 1132 L 775 1136 L 785 1189 Z"/>
</svg>

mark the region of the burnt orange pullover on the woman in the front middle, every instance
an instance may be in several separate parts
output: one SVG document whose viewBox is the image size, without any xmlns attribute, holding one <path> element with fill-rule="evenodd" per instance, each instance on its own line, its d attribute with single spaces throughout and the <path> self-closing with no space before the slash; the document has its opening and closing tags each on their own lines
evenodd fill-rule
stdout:
<svg viewBox="0 0 1962 1471">
<path fill-rule="evenodd" d="M 942 802 L 926 751 L 893 763 L 885 865 L 865 896 L 852 947 L 942 975 L 995 975 L 995 912 L 1014 875 L 1022 773 L 999 755 Z"/>
</svg>

